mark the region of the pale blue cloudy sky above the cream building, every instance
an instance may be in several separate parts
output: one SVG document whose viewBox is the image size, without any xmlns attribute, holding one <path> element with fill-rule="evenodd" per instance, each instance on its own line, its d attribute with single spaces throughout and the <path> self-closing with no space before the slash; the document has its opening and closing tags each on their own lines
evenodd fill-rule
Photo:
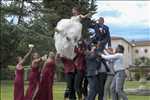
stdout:
<svg viewBox="0 0 150 100">
<path fill-rule="evenodd" d="M 97 1 L 93 19 L 105 18 L 112 36 L 150 40 L 150 1 Z"/>
</svg>

